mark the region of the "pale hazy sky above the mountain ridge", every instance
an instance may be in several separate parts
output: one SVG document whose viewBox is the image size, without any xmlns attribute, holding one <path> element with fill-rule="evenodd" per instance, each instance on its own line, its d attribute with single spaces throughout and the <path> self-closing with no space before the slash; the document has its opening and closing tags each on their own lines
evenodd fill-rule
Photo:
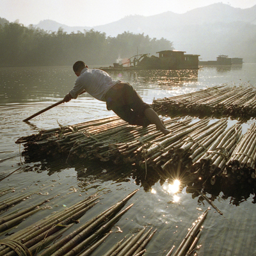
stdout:
<svg viewBox="0 0 256 256">
<path fill-rule="evenodd" d="M 51 19 L 68 26 L 98 26 L 127 15 L 185 13 L 213 3 L 250 8 L 256 0 L 0 0 L 0 17 L 28 26 Z"/>
</svg>

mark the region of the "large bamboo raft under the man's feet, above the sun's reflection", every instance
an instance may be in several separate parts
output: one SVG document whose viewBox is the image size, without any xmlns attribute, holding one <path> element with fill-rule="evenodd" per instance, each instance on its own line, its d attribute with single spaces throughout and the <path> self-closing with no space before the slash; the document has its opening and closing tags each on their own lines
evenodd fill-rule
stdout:
<svg viewBox="0 0 256 256">
<path fill-rule="evenodd" d="M 115 164 L 136 164 L 147 177 L 147 168 L 161 176 L 188 179 L 255 182 L 255 124 L 243 134 L 241 122 L 227 118 L 198 120 L 168 118 L 172 132 L 164 136 L 155 125 L 128 125 L 114 116 L 72 127 L 60 127 L 20 138 L 25 157 L 65 156 L 66 161 L 86 159 Z"/>
</svg>

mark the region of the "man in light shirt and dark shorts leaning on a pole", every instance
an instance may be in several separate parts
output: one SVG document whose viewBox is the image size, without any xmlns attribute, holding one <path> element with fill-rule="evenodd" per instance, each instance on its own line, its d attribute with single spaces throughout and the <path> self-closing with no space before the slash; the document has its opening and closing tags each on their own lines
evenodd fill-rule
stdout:
<svg viewBox="0 0 256 256">
<path fill-rule="evenodd" d="M 73 70 L 77 76 L 76 83 L 64 97 L 64 102 L 76 99 L 81 92 L 88 92 L 95 99 L 106 102 L 108 110 L 113 110 L 131 125 L 147 127 L 149 124 L 155 124 L 163 134 L 170 132 L 154 109 L 143 102 L 129 83 L 113 80 L 108 73 L 90 69 L 83 61 L 74 63 Z"/>
</svg>

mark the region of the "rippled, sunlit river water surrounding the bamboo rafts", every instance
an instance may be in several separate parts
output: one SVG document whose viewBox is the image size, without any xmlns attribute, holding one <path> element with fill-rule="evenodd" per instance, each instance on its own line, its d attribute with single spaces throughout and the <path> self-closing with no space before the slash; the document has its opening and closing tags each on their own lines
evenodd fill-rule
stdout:
<svg viewBox="0 0 256 256">
<path fill-rule="evenodd" d="M 153 99 L 173 97 L 220 84 L 235 86 L 250 83 L 256 86 L 255 70 L 256 64 L 244 63 L 243 66 L 202 67 L 199 70 L 141 70 L 109 74 L 115 79 L 131 83 L 143 100 L 151 104 Z M 115 225 L 122 233 L 114 230 L 113 236 L 109 236 L 102 248 L 92 255 L 101 255 L 125 234 L 145 225 L 157 228 L 145 255 L 164 255 L 164 250 L 169 250 L 173 244 L 179 246 L 191 223 L 210 206 L 189 193 L 186 186 L 174 194 L 167 189 L 168 182 L 158 180 L 150 186 L 143 186 L 137 177 L 125 170 L 120 174 L 122 179 L 113 179 L 111 175 L 108 176 L 111 167 L 108 170 L 102 166 L 102 172 L 99 172 L 99 163 L 95 163 L 95 172 L 90 166 L 92 172 L 86 175 L 84 173 L 88 166 L 79 163 L 72 166 L 59 159 L 49 160 L 40 156 L 28 163 L 22 157 L 23 146 L 15 143 L 22 136 L 59 125 L 114 115 L 106 109 L 104 102 L 85 93 L 76 100 L 36 116 L 29 124 L 22 122 L 24 118 L 63 99 L 75 79 L 71 67 L 0 68 L 0 174 L 14 172 L 0 182 L 0 189 L 11 187 L 13 193 L 23 193 L 25 189 L 42 189 L 44 193 L 41 196 L 60 194 L 59 199 L 51 203 L 52 211 L 71 206 L 86 195 L 95 192 L 102 194 L 102 203 L 93 207 L 91 215 L 81 218 L 81 222 L 122 200 L 135 189 L 140 189 L 129 200 L 134 204 L 132 208 Z M 208 195 L 215 196 L 214 204 L 223 215 L 214 209 L 209 211 L 199 241 L 199 255 L 256 255 L 255 195 L 253 191 L 244 191 L 241 195 L 238 189 L 239 196 L 236 193 L 228 195 L 223 191 Z M 175 196 L 179 200 L 169 204 Z M 33 200 L 36 201 L 32 198 L 31 202 Z M 35 217 L 20 223 L 18 228 L 26 227 L 47 214 L 49 212 L 38 212 Z"/>
</svg>

